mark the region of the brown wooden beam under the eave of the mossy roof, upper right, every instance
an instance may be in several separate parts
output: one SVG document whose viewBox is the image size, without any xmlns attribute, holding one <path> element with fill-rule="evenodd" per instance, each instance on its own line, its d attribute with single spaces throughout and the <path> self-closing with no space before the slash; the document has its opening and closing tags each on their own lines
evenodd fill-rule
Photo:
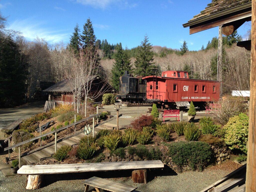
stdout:
<svg viewBox="0 0 256 192">
<path fill-rule="evenodd" d="M 240 20 L 240 19 L 245 19 L 246 18 L 246 20 L 249 20 L 251 18 L 251 15 L 252 15 L 252 12 L 248 11 L 248 12 L 241 13 L 241 14 L 238 14 L 238 15 L 233 15 L 233 16 L 230 16 L 230 17 L 227 17 L 227 18 L 212 21 L 212 22 L 206 23 L 204 25 L 190 26 L 189 27 L 189 34 L 197 33 L 199 31 L 204 31 L 206 29 L 210 29 L 210 28 L 217 27 L 217 26 L 220 26 L 220 25 L 235 22 L 235 21 Z"/>
</svg>

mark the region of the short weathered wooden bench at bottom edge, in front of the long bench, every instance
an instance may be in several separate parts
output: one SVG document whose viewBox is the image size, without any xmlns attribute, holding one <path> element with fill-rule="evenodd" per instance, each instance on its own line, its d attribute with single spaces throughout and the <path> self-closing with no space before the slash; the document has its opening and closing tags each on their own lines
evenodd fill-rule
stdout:
<svg viewBox="0 0 256 192">
<path fill-rule="evenodd" d="M 97 192 L 100 192 L 99 189 L 104 189 L 112 192 L 131 192 L 137 189 L 137 187 L 125 185 L 118 182 L 113 182 L 113 181 L 102 179 L 99 177 L 91 177 L 90 179 L 86 179 L 82 181 L 82 183 L 84 184 L 84 187 L 85 187 L 84 192 L 88 192 L 89 186 L 94 187 Z"/>
</svg>

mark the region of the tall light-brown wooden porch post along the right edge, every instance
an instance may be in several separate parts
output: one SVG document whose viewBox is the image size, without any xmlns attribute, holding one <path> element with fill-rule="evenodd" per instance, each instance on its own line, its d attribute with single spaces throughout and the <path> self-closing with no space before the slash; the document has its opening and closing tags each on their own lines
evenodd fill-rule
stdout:
<svg viewBox="0 0 256 192">
<path fill-rule="evenodd" d="M 256 0 L 252 0 L 251 77 L 246 192 L 256 191 Z"/>
</svg>

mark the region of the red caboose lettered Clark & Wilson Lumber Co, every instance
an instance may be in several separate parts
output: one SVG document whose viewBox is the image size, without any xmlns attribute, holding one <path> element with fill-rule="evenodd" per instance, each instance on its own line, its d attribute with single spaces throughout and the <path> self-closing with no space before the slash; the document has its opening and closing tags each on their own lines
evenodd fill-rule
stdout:
<svg viewBox="0 0 256 192">
<path fill-rule="evenodd" d="M 147 76 L 147 102 L 186 106 L 193 101 L 202 106 L 207 101 L 217 101 L 220 97 L 220 82 L 189 79 L 186 71 L 163 71 L 162 77 Z"/>
</svg>

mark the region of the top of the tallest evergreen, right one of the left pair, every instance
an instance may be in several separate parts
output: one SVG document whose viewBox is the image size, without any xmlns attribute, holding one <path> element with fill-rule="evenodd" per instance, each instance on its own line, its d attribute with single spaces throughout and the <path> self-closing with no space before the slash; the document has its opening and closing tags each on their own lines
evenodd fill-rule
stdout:
<svg viewBox="0 0 256 192">
<path fill-rule="evenodd" d="M 87 22 L 83 25 L 82 34 L 83 35 L 81 35 L 81 39 L 84 43 L 84 47 L 95 46 L 96 36 L 94 35 L 94 30 L 90 18 L 88 18 Z"/>
</svg>

